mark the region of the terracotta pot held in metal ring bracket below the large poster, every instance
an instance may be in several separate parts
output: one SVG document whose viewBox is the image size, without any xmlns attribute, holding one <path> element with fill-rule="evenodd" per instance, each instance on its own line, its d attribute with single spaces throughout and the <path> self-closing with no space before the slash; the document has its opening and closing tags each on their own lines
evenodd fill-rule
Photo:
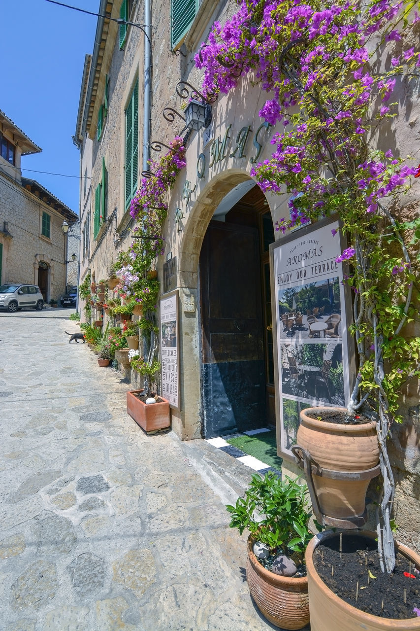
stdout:
<svg viewBox="0 0 420 631">
<path fill-rule="evenodd" d="M 376 423 L 363 425 L 327 423 L 311 418 L 322 410 L 308 408 L 300 413 L 301 424 L 293 447 L 296 456 L 302 449 L 310 454 L 305 477 L 317 519 L 337 528 L 358 528 L 366 522 L 366 491 L 371 478 L 379 474 L 379 447 Z M 338 408 L 345 411 L 345 408 Z M 310 464 L 310 466 L 309 466 Z M 312 478 L 312 479 L 311 479 Z"/>
</svg>

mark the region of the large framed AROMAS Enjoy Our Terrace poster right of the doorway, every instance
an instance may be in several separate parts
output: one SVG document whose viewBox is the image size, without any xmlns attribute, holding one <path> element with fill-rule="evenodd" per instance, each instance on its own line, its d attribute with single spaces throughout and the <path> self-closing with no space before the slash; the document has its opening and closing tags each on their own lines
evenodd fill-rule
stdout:
<svg viewBox="0 0 420 631">
<path fill-rule="evenodd" d="M 326 220 L 272 245 L 280 451 L 293 457 L 299 413 L 346 406 L 350 396 L 347 292 L 337 221 Z M 347 303 L 348 303 L 347 299 Z"/>
</svg>

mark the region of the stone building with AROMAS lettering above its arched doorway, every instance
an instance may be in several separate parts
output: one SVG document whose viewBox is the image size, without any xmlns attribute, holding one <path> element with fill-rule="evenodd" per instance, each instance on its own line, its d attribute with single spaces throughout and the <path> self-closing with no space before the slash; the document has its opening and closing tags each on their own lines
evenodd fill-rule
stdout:
<svg viewBox="0 0 420 631">
<path fill-rule="evenodd" d="M 281 238 L 274 226 L 288 216 L 288 198 L 264 195 L 250 177 L 255 163 L 271 157 L 270 139 L 283 126 L 271 127 L 259 117 L 267 96 L 243 78 L 235 90 L 211 103 L 209 126 L 186 133 L 182 112 L 188 98 L 182 93 L 185 83 L 178 86 L 188 82 L 199 89 L 202 74 L 194 55 L 213 22 L 223 23 L 236 6 L 233 0 L 173 0 L 170 13 L 163 0 L 101 0 L 78 111 L 81 280 L 88 272 L 93 280 L 107 278 L 118 252 L 127 251 L 134 227 L 129 204 L 149 158 L 158 159 L 159 143 L 168 146 L 177 134 L 185 138 L 187 167 L 168 193 L 165 252 L 157 259 L 161 298 L 177 297 L 179 399 L 171 416 L 182 440 L 267 423 L 286 432 L 276 392 L 281 368 L 272 330 L 269 246 Z M 409 121 L 402 117 L 398 136 L 403 151 L 412 126 L 418 129 L 418 103 L 416 107 L 417 118 L 414 111 Z M 324 285 L 319 291 L 335 307 L 334 287 Z M 418 459 L 409 456 L 419 426 L 415 396 L 407 399 L 407 416 L 393 449 L 409 480 L 400 488 L 410 497 L 405 507 L 414 510 L 420 473 Z M 294 465 L 284 451 L 287 473 Z M 412 522 L 405 516 L 404 522 L 410 530 Z M 413 538 L 419 536 L 416 532 Z"/>
</svg>

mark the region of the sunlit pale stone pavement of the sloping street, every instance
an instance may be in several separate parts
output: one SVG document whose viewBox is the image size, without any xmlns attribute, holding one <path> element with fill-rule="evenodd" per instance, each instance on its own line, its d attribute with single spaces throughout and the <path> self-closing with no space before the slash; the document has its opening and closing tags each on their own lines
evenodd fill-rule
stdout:
<svg viewBox="0 0 420 631">
<path fill-rule="evenodd" d="M 64 329 L 0 314 L 1 631 L 261 631 L 226 503 L 252 471 L 204 440 L 148 437 L 128 384 Z"/>
</svg>

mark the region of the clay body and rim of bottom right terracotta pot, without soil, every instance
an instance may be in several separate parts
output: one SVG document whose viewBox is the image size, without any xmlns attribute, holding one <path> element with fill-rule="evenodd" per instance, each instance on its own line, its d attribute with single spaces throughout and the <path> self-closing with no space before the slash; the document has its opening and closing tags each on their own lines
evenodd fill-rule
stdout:
<svg viewBox="0 0 420 631">
<path fill-rule="evenodd" d="M 376 537 L 376 533 L 367 531 L 363 531 L 362 534 L 371 538 Z M 346 533 L 343 533 L 343 536 L 345 535 Z M 324 531 L 324 533 L 317 534 L 306 548 L 311 631 L 358 631 L 362 629 L 363 631 L 420 631 L 420 618 L 395 620 L 373 616 L 346 603 L 325 585 L 313 565 L 313 553 L 322 541 L 334 536 L 338 536 L 338 533 Z M 411 560 L 417 568 L 420 568 L 420 557 L 410 548 L 395 541 L 395 550 Z M 407 562 L 407 567 L 408 565 Z"/>
</svg>

